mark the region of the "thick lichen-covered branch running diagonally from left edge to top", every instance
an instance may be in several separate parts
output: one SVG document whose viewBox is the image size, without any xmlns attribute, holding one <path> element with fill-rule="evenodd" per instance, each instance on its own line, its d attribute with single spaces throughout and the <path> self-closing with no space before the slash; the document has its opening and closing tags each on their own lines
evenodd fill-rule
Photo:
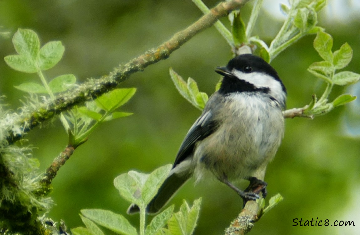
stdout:
<svg viewBox="0 0 360 235">
<path fill-rule="evenodd" d="M 231 0 L 221 2 L 188 28 L 177 32 L 170 40 L 159 45 L 157 48 L 148 50 L 125 65 L 119 65 L 108 75 L 104 75 L 99 79 L 91 78 L 77 88 L 60 94 L 55 99 L 41 103 L 39 107 L 32 109 L 25 106 L 22 107 L 21 113 L 14 115 L 13 120 L 7 125 L 8 133 L 2 136 L 0 143 L 6 140 L 7 144 L 11 145 L 23 138 L 25 133 L 39 126 L 44 121 L 53 118 L 55 115 L 114 89 L 131 74 L 142 71 L 147 66 L 168 58 L 174 50 L 178 49 L 186 41 L 189 41 L 193 36 L 211 27 L 218 19 L 228 15 L 232 10 L 241 8 L 248 1 Z M 21 129 L 19 130 L 18 127 L 21 127 Z"/>
</svg>

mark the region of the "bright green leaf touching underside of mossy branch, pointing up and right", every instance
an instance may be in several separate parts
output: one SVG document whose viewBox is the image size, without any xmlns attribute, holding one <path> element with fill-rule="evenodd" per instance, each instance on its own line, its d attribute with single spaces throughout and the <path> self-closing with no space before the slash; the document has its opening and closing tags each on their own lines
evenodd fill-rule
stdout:
<svg viewBox="0 0 360 235">
<path fill-rule="evenodd" d="M 95 102 L 99 108 L 111 112 L 129 101 L 135 92 L 136 88 L 118 88 L 98 97 Z"/>
</svg>

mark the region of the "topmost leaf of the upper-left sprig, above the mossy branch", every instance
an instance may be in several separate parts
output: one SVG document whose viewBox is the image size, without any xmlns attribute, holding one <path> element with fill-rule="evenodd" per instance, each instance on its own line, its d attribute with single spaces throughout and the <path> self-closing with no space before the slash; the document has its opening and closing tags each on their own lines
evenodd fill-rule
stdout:
<svg viewBox="0 0 360 235">
<path fill-rule="evenodd" d="M 13 36 L 13 44 L 19 55 L 32 59 L 32 61 L 36 60 L 37 54 L 39 53 L 40 41 L 34 31 L 19 28 Z"/>
</svg>

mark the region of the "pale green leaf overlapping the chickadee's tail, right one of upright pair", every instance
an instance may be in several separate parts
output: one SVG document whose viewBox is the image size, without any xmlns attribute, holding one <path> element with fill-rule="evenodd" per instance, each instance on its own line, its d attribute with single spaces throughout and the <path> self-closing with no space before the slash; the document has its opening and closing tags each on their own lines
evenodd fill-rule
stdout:
<svg viewBox="0 0 360 235">
<path fill-rule="evenodd" d="M 154 196 L 157 194 L 157 191 L 167 178 L 171 168 L 172 165 L 167 164 L 165 166 L 155 169 L 149 174 L 149 177 L 146 179 L 141 193 L 145 204 L 149 204 L 151 199 L 153 199 Z"/>
</svg>

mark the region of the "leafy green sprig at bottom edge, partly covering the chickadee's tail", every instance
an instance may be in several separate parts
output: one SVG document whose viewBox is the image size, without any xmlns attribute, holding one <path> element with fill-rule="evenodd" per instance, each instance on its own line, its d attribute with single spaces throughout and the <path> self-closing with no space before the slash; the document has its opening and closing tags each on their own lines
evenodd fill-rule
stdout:
<svg viewBox="0 0 360 235">
<path fill-rule="evenodd" d="M 180 211 L 173 213 L 174 205 L 163 210 L 155 216 L 149 225 L 145 225 L 144 209 L 146 205 L 156 195 L 159 187 L 165 181 L 170 172 L 171 164 L 165 165 L 155 169 L 150 174 L 144 174 L 136 171 L 129 171 L 121 174 L 114 179 L 114 186 L 119 190 L 120 195 L 130 203 L 134 203 L 140 208 L 140 234 L 144 235 L 191 235 L 195 229 L 201 199 L 195 200 L 193 207 L 184 201 L 180 207 Z M 72 229 L 73 234 L 76 235 L 103 235 L 104 233 L 96 225 L 103 226 L 112 230 L 116 234 L 136 235 L 138 234 L 135 227 L 133 227 L 125 217 L 121 214 L 116 214 L 109 210 L 102 209 L 84 209 L 81 210 L 81 220 L 85 227 L 77 227 Z M 164 226 L 167 225 L 168 228 Z"/>
</svg>

